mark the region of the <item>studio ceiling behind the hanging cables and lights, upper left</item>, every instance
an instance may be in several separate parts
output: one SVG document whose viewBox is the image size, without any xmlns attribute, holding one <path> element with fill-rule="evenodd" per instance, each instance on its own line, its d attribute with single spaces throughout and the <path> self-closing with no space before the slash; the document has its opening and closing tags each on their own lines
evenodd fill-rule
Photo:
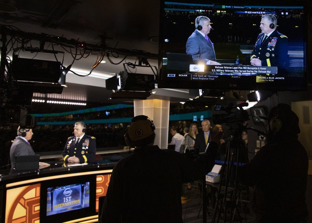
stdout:
<svg viewBox="0 0 312 223">
<path fill-rule="evenodd" d="M 74 39 L 90 46 L 118 49 L 119 51 L 137 50 L 138 54 L 149 55 L 149 63 L 158 66 L 158 35 L 159 35 L 159 0 L 25 0 L 0 1 L 0 24 L 10 26 L 10 29 L 26 33 L 60 36 L 67 40 Z M 9 39 L 9 36 L 7 37 Z M 38 41 L 28 44 L 37 46 Z M 51 45 L 45 43 L 45 49 Z M 54 49 L 64 51 L 63 65 L 67 67 L 73 62 L 73 57 L 63 48 L 54 44 Z M 111 91 L 105 90 L 105 78 L 124 70 L 123 63 L 138 63 L 137 57 L 115 54 L 110 56 L 111 64 L 106 56 L 104 64 L 98 65 L 88 77 L 79 77 L 70 72 L 66 75 L 65 88 L 61 95 L 35 93 L 34 96 L 46 98 L 75 99 L 105 103 L 130 102 L 129 99 L 107 100 Z M 19 56 L 38 60 L 54 60 L 52 55 L 38 53 L 37 55 L 22 52 Z M 98 60 L 96 53 L 87 58 L 74 61 L 71 70 L 82 75 L 87 74 L 92 65 Z M 136 67 L 130 72 L 153 74 L 150 68 Z M 104 79 L 102 77 L 104 76 Z M 101 78 L 98 78 L 101 76 Z M 155 95 L 149 97 L 168 99 L 170 101 L 186 101 L 189 97 L 187 90 L 170 91 L 155 89 Z M 170 95 L 170 96 L 169 96 Z"/>
</svg>

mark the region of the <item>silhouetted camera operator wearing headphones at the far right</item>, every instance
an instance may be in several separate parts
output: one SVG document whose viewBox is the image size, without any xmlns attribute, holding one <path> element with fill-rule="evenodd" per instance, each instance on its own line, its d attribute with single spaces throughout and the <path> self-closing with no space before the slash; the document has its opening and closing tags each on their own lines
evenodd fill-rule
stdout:
<svg viewBox="0 0 312 223">
<path fill-rule="evenodd" d="M 239 169 L 238 178 L 244 185 L 255 186 L 252 209 L 256 222 L 306 222 L 309 160 L 298 140 L 298 116 L 288 104 L 278 104 L 267 118 L 267 144 Z"/>
</svg>

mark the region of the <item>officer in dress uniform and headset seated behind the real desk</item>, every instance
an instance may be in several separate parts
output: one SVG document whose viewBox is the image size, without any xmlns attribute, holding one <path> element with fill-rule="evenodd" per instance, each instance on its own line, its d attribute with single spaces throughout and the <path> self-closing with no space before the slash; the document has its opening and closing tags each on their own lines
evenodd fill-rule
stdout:
<svg viewBox="0 0 312 223">
<path fill-rule="evenodd" d="M 63 159 L 68 163 L 90 162 L 95 157 L 96 142 L 95 137 L 85 134 L 85 123 L 76 122 L 74 135 L 67 139 Z"/>
</svg>

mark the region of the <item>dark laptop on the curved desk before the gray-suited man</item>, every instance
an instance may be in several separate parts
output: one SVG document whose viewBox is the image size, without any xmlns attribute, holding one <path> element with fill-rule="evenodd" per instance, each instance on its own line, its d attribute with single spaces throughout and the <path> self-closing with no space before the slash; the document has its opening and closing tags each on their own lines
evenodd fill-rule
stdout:
<svg viewBox="0 0 312 223">
<path fill-rule="evenodd" d="M 15 171 L 27 171 L 39 169 L 40 155 L 17 156 Z"/>
</svg>

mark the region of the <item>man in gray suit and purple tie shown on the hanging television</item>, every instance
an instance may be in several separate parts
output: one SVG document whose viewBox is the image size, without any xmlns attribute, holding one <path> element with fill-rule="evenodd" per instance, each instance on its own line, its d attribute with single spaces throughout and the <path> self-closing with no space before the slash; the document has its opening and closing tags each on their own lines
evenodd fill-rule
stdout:
<svg viewBox="0 0 312 223">
<path fill-rule="evenodd" d="M 197 64 L 221 65 L 216 62 L 213 43 L 207 36 L 212 29 L 210 19 L 206 16 L 198 16 L 195 19 L 195 27 L 196 30 L 186 42 L 186 53 L 191 54 Z"/>
</svg>

